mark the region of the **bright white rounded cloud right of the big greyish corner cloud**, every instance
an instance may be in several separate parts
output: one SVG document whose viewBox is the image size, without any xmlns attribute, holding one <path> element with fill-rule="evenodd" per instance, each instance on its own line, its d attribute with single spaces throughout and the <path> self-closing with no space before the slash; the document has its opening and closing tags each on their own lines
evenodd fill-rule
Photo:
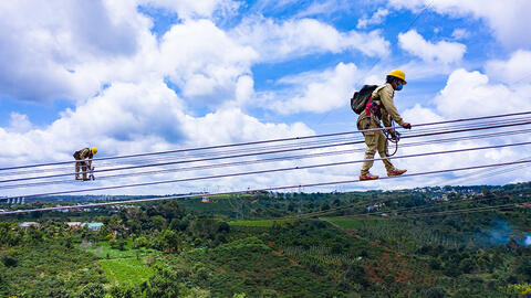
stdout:
<svg viewBox="0 0 531 298">
<path fill-rule="evenodd" d="M 230 39 L 209 20 L 174 25 L 160 42 L 160 68 L 187 97 L 210 96 L 219 104 L 233 94 L 238 77 L 249 73 L 257 53 Z"/>
</svg>

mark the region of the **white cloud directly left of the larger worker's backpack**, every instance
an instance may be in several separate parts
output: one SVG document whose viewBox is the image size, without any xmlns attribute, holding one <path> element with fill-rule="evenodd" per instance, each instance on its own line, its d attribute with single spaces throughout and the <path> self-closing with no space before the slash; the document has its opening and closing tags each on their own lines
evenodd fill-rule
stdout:
<svg viewBox="0 0 531 298">
<path fill-rule="evenodd" d="M 284 77 L 279 84 L 288 85 L 278 93 L 262 94 L 264 108 L 289 115 L 301 111 L 323 113 L 347 105 L 360 74 L 352 64 L 339 63 L 323 72 Z"/>
</svg>

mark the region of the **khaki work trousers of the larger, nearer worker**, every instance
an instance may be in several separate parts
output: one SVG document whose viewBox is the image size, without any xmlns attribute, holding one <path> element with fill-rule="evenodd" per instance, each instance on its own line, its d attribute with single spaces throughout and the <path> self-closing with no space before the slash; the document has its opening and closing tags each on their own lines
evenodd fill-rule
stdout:
<svg viewBox="0 0 531 298">
<path fill-rule="evenodd" d="M 357 128 L 360 130 L 379 127 L 379 121 L 376 123 L 369 117 L 361 117 L 357 120 Z M 395 167 L 387 158 L 387 139 L 385 138 L 384 132 L 382 132 L 382 130 L 364 131 L 363 136 L 365 137 L 367 149 L 365 149 L 365 161 L 363 162 L 361 174 L 365 175 L 368 173 L 374 164 L 374 160 L 372 159 L 374 159 L 376 151 L 378 151 L 379 157 L 383 158 L 382 161 L 384 162 L 387 172 L 393 171 Z"/>
</svg>

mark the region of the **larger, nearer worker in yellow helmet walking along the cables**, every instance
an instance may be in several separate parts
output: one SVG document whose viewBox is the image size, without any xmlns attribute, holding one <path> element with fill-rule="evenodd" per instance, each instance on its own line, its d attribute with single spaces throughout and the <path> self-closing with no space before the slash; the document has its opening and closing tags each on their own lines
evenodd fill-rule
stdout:
<svg viewBox="0 0 531 298">
<path fill-rule="evenodd" d="M 365 110 L 360 114 L 357 118 L 357 129 L 381 128 L 383 121 L 384 127 L 391 127 L 392 120 L 399 126 L 410 129 L 412 125 L 405 123 L 393 103 L 395 91 L 402 91 L 406 85 L 406 75 L 400 70 L 392 71 L 386 77 L 386 84 L 378 86 L 372 94 L 371 99 L 365 106 Z M 394 134 L 394 131 L 389 131 Z M 369 172 L 374 163 L 374 155 L 378 151 L 382 161 L 385 164 L 388 177 L 400 175 L 406 170 L 395 169 L 391 160 L 387 158 L 387 139 L 382 130 L 363 131 L 367 149 L 365 150 L 365 161 L 362 166 L 360 180 L 375 180 L 378 179 Z"/>
</svg>

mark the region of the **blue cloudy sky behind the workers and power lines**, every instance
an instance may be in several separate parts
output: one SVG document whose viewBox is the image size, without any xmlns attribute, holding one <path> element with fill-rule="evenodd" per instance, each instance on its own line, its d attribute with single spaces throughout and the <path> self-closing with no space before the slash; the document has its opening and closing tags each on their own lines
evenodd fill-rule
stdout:
<svg viewBox="0 0 531 298">
<path fill-rule="evenodd" d="M 50 0 L 0 3 L 0 168 L 355 130 L 364 84 L 400 68 L 395 93 L 415 124 L 531 110 L 528 0 Z M 527 141 L 527 136 L 400 148 L 398 155 Z M 360 147 L 356 147 L 360 148 Z M 409 172 L 519 160 L 529 147 L 400 159 Z M 363 153 L 230 171 L 356 160 Z M 96 166 L 97 167 L 97 166 Z M 206 170 L 200 174 L 229 170 Z M 104 193 L 231 191 L 356 179 L 360 164 Z M 376 161 L 373 173 L 385 175 Z M 83 187 L 195 177 L 168 173 Z M 531 180 L 524 168 L 331 190 Z M 460 178 L 460 180 L 456 180 Z M 80 184 L 0 190 L 24 195 Z M 102 192 L 100 192 L 102 193 Z"/>
</svg>

